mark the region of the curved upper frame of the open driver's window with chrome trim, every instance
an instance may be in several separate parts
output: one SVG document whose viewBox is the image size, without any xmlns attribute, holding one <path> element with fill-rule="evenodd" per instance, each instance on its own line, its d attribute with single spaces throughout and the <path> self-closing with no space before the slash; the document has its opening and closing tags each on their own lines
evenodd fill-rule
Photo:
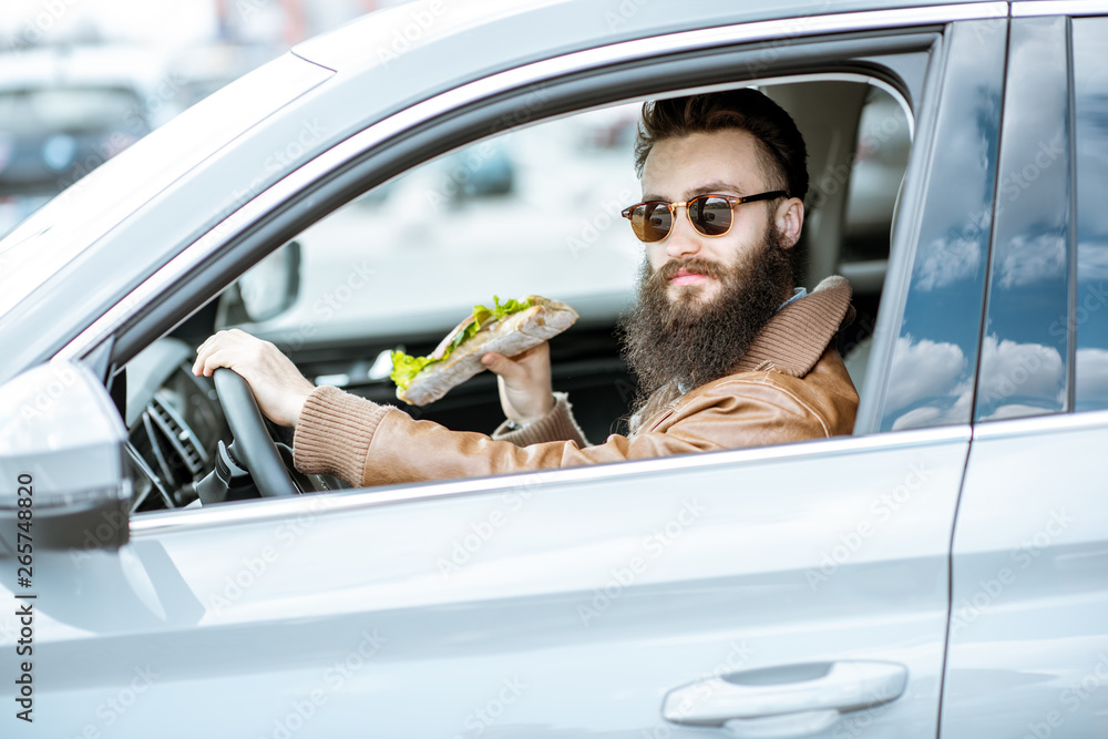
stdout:
<svg viewBox="0 0 1108 739">
<path fill-rule="evenodd" d="M 938 40 L 940 34 L 934 30 L 921 31 L 915 28 L 896 31 L 891 38 L 873 39 L 862 35 L 849 40 L 806 40 L 778 52 L 783 59 L 779 63 L 786 66 L 780 73 L 748 79 L 736 76 L 736 73 L 749 69 L 751 60 L 758 60 L 763 54 L 763 49 L 694 51 L 676 60 L 666 58 L 649 65 L 593 69 L 550 82 L 544 94 L 552 99 L 552 104 L 543 112 L 542 119 L 529 120 L 526 124 L 633 102 L 654 94 L 680 94 L 758 82 L 796 81 L 800 78 L 797 64 L 817 68 L 834 60 L 843 68 L 839 71 L 840 75 L 854 74 L 883 81 L 914 107 L 907 86 L 894 78 L 891 70 L 879 73 L 875 58 L 882 53 L 931 52 Z M 730 57 L 729 63 L 721 63 L 720 57 L 725 54 Z M 842 63 L 844 58 L 855 58 L 858 61 L 853 66 L 847 66 Z M 657 74 L 658 65 L 665 68 L 665 78 Z M 726 81 L 691 89 L 677 84 L 687 80 L 690 74 L 695 75 L 697 68 L 709 70 Z M 817 74 L 827 73 L 821 71 L 803 76 L 813 78 Z M 633 83 L 642 89 L 629 89 Z M 619 93 L 613 95 L 611 91 L 616 90 Z M 490 133 L 499 133 L 500 130 L 489 131 L 490 122 L 511 119 L 520 113 L 521 101 L 525 101 L 532 91 L 532 86 L 523 86 L 492 99 L 476 99 L 464 106 L 444 111 L 417 126 L 404 129 L 406 122 L 394 119 L 409 117 L 414 110 L 409 109 L 332 147 L 207 232 L 59 351 L 55 358 L 82 358 L 109 336 L 114 336 L 113 363 L 117 367 L 124 365 L 142 347 L 179 325 L 249 266 L 309 225 L 420 163 L 459 146 L 476 143 Z M 526 112 L 525 102 L 522 109 Z M 919 120 L 920 114 L 916 113 L 916 121 Z M 916 131 L 920 135 L 919 123 Z M 912 170 L 911 163 L 909 170 Z M 187 308 L 186 305 L 196 307 Z M 115 326 L 110 328 L 113 322 Z M 100 333 L 102 336 L 98 336 Z"/>
</svg>

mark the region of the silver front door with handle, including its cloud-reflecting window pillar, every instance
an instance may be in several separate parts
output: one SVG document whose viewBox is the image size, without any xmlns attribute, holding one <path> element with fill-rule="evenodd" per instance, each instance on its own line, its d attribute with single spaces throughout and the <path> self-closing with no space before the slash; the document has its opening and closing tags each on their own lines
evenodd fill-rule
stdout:
<svg viewBox="0 0 1108 739">
<path fill-rule="evenodd" d="M 855 437 L 135 519 L 43 563 L 35 730 L 933 737 L 1006 23 L 931 29 Z"/>
</svg>

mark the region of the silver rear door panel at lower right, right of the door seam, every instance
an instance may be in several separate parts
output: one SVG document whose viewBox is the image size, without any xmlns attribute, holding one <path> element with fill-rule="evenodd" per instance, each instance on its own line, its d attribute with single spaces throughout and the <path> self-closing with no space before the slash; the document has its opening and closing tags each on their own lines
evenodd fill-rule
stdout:
<svg viewBox="0 0 1108 739">
<path fill-rule="evenodd" d="M 1106 439 L 1101 412 L 989 424 L 974 438 L 943 739 L 1108 732 Z"/>
</svg>

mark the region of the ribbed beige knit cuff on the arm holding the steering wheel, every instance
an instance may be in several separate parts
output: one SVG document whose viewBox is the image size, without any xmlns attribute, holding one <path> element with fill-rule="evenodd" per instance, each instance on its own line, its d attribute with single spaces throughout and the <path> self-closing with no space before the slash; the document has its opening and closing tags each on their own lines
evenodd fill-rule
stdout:
<svg viewBox="0 0 1108 739">
<path fill-rule="evenodd" d="M 373 432 L 396 410 L 330 386 L 311 391 L 293 437 L 293 463 L 307 474 L 334 474 L 361 485 Z"/>
</svg>

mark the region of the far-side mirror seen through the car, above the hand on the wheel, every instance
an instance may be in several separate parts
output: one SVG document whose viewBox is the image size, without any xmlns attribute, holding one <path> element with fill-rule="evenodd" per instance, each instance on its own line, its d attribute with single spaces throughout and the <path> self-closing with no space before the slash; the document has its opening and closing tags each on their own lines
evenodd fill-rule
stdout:
<svg viewBox="0 0 1108 739">
<path fill-rule="evenodd" d="M 285 246 L 250 267 L 219 298 L 216 327 L 260 324 L 288 310 L 300 292 L 300 243 Z"/>
</svg>

